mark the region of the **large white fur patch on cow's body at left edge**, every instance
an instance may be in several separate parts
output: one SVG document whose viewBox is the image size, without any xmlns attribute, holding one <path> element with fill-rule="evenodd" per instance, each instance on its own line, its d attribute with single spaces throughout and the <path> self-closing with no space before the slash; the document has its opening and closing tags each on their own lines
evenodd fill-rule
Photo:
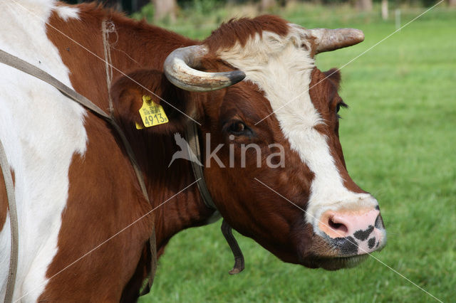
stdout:
<svg viewBox="0 0 456 303">
<path fill-rule="evenodd" d="M 24 7 L 27 9 L 24 10 Z M 46 36 L 54 1 L 5 1 L 0 48 L 71 87 L 68 68 Z M 61 9 L 61 8 L 60 8 Z M 63 9 L 62 16 L 75 16 Z M 0 140 L 14 169 L 19 217 L 19 263 L 14 300 L 35 302 L 58 250 L 61 213 L 68 199 L 73 154 L 86 151 L 85 110 L 51 85 L 0 64 Z M 9 223 L 0 231 L 0 301 L 9 268 Z"/>
</svg>

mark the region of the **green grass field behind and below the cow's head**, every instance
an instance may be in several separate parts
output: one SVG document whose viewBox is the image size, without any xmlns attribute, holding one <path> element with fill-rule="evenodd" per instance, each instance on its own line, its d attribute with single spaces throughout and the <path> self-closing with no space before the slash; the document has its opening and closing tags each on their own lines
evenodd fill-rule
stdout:
<svg viewBox="0 0 456 303">
<path fill-rule="evenodd" d="M 358 46 L 318 55 L 321 70 L 341 67 L 395 31 L 393 20 L 376 16 L 311 13 L 296 6 L 282 16 L 309 28 L 350 26 L 366 35 Z M 403 24 L 419 13 L 403 14 Z M 204 38 L 212 28 L 187 20 L 174 29 Z M 431 11 L 341 71 L 340 93 L 350 105 L 341 111 L 348 171 L 380 202 L 385 249 L 356 268 L 327 272 L 283 263 L 237 234 L 246 269 L 230 276 L 233 259 L 218 222 L 172 238 L 152 292 L 140 302 L 434 301 L 388 267 L 455 302 L 456 11 Z"/>
</svg>

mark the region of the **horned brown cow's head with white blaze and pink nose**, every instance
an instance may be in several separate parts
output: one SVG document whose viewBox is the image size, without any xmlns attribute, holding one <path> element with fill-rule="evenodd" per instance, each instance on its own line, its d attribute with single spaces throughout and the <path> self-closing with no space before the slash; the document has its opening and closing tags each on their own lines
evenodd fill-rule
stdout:
<svg viewBox="0 0 456 303">
<path fill-rule="evenodd" d="M 173 85 L 161 71 L 144 79 L 202 124 L 202 154 L 217 151 L 204 174 L 224 219 L 286 262 L 333 270 L 385 245 L 378 202 L 353 182 L 343 159 L 341 76 L 321 72 L 314 60 L 361 41 L 353 29 L 240 19 L 173 51 L 165 60 Z M 142 91 L 132 94 L 140 99 Z M 147 131 L 182 132 L 185 116 L 174 117 Z"/>
</svg>

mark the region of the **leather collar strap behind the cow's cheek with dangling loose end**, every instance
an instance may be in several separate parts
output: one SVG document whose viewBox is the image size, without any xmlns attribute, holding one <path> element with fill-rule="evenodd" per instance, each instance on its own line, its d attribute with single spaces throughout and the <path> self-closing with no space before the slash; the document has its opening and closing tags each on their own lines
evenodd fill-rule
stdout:
<svg viewBox="0 0 456 303">
<path fill-rule="evenodd" d="M 199 135 L 196 123 L 190 122 L 190 125 L 188 125 L 185 132 L 185 139 L 187 139 L 188 146 L 190 147 L 190 150 L 188 151 L 189 155 L 191 153 L 195 154 L 198 161 L 200 163 L 203 163 L 201 159 L 201 149 L 199 148 Z M 191 159 L 191 157 L 189 157 L 189 159 Z M 208 208 L 214 209 L 218 213 L 217 206 L 215 206 L 214 200 L 212 200 L 212 196 L 209 193 L 209 189 L 207 189 L 206 180 L 204 179 L 203 166 L 200 166 L 195 161 L 191 161 L 191 163 L 195 179 L 199 180 L 197 182 L 197 185 L 199 193 L 201 194 L 202 201 Z M 231 248 L 234 255 L 234 267 L 229 271 L 229 274 L 235 275 L 244 270 L 244 255 L 242 255 L 242 251 L 239 248 L 237 240 L 234 238 L 234 235 L 232 233 L 232 228 L 229 226 L 226 220 L 222 221 L 221 229 L 224 238 L 227 240 L 229 248 Z"/>
</svg>

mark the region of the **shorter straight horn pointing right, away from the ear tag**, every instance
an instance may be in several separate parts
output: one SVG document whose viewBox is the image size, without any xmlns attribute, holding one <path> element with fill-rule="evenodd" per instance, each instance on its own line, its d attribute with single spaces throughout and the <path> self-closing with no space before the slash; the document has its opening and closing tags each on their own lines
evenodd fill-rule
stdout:
<svg viewBox="0 0 456 303">
<path fill-rule="evenodd" d="M 355 28 L 314 28 L 309 31 L 315 38 L 315 54 L 354 46 L 364 41 L 363 31 Z"/>
</svg>

